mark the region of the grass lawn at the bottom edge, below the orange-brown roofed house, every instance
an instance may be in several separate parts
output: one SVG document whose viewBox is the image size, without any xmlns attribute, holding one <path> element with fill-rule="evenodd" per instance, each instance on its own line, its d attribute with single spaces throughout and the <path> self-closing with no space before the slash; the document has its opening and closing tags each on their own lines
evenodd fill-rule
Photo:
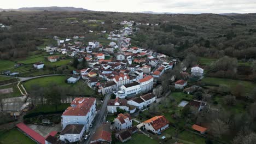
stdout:
<svg viewBox="0 0 256 144">
<path fill-rule="evenodd" d="M 116 142 L 117 144 L 121 144 L 122 142 Z M 132 135 L 132 139 L 129 141 L 124 142 L 125 144 L 137 144 L 137 143 L 150 143 L 150 144 L 156 144 L 158 141 L 154 139 L 150 139 L 150 137 L 144 135 L 144 134 L 138 134 L 135 133 Z"/>
</svg>

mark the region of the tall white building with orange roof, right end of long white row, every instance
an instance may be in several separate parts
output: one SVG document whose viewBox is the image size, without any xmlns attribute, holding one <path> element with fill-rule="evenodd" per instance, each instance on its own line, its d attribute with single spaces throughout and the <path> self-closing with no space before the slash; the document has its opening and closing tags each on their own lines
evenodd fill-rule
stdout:
<svg viewBox="0 0 256 144">
<path fill-rule="evenodd" d="M 149 75 L 144 77 L 143 79 L 138 80 L 138 82 L 141 84 L 141 92 L 145 93 L 153 89 L 154 77 Z"/>
</svg>

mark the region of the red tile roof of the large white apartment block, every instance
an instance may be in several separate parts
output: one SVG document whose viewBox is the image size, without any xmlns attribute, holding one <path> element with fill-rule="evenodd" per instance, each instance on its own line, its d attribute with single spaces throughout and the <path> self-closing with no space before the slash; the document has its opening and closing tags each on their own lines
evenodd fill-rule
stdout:
<svg viewBox="0 0 256 144">
<path fill-rule="evenodd" d="M 75 107 L 69 106 L 66 111 L 63 112 L 63 116 L 86 116 L 90 111 L 91 106 L 96 101 L 95 98 L 75 98 L 72 101 L 71 105 L 75 105 Z"/>
</svg>

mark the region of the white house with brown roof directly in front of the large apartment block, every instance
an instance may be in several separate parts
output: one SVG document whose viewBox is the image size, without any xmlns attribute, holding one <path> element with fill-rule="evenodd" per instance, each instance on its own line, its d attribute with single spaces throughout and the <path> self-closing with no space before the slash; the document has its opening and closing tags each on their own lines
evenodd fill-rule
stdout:
<svg viewBox="0 0 256 144">
<path fill-rule="evenodd" d="M 78 142 L 83 140 L 84 124 L 68 124 L 60 134 L 61 141 Z"/>
</svg>

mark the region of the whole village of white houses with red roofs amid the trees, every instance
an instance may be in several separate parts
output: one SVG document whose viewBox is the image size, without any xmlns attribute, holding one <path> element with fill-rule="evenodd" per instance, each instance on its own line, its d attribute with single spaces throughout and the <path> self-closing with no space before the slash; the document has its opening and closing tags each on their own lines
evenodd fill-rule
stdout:
<svg viewBox="0 0 256 144">
<path fill-rule="evenodd" d="M 112 143 L 112 141 L 131 141 L 135 133 L 141 133 L 152 138 L 155 135 L 160 139 L 170 139 L 162 133 L 166 129 L 172 129 L 171 122 L 164 115 L 155 115 L 145 121 L 139 121 L 138 115 L 150 110 L 150 105 L 161 103 L 161 86 L 158 80 L 166 71 L 173 69 L 179 62 L 176 58 L 170 58 L 154 50 L 141 49 L 131 46 L 130 35 L 139 31 L 132 27 L 134 21 L 123 21 L 126 25 L 121 30 L 109 32 L 107 39 L 113 40 L 107 46 L 98 41 L 89 41 L 88 44 L 80 40 L 84 36 L 74 35 L 72 38 L 60 39 L 54 36 L 57 46 L 45 46 L 43 50 L 49 55 L 50 63 L 65 60 L 72 57 L 77 63 L 86 63 L 86 67 L 77 67 L 72 70 L 72 76 L 67 83 L 83 81 L 90 89 L 103 95 L 101 107 L 96 106 L 96 98 L 76 97 L 70 106 L 61 115 L 61 131 L 51 131 L 45 138 L 36 131 L 27 127 L 23 122 L 16 124 L 21 131 L 26 133 L 37 143 Z M 149 23 L 146 24 L 147 26 Z M 151 25 L 151 24 L 150 24 Z M 157 24 L 156 24 L 157 25 Z M 102 31 L 106 33 L 106 31 Z M 56 55 L 57 54 L 57 55 Z M 33 63 L 35 69 L 44 69 L 44 62 Z M 187 68 L 181 69 L 184 79 L 176 79 L 172 76 L 174 89 L 191 94 L 199 87 L 188 88 L 188 77 L 202 78 L 204 71 L 198 65 L 191 68 L 190 74 Z M 184 72 L 183 72 L 184 71 Z M 4 71 L 5 75 L 17 75 L 16 71 Z M 19 86 L 18 86 L 19 87 Z M 19 88 L 20 89 L 20 88 Z M 24 89 L 24 90 L 21 90 Z M 21 86 L 21 93 L 28 97 L 26 89 Z M 184 89 L 184 90 L 183 90 Z M 169 90 L 168 94 L 171 93 Z M 31 99 L 28 98 L 27 101 Z M 10 112 L 12 116 L 19 116 L 27 111 L 30 102 L 25 103 L 16 112 Z M 182 100 L 178 107 L 192 106 L 195 112 L 202 111 L 207 106 L 205 101 L 191 99 Z M 51 123 L 49 119 L 43 119 L 43 123 Z M 200 125 L 192 125 L 191 129 L 201 135 L 206 128 Z M 196 133 L 196 132 L 195 132 Z M 114 136 L 113 136 L 114 135 Z M 113 140 L 115 139 L 115 140 Z M 175 140 L 176 142 L 179 140 Z M 181 140 L 182 142 L 182 140 Z"/>
</svg>

